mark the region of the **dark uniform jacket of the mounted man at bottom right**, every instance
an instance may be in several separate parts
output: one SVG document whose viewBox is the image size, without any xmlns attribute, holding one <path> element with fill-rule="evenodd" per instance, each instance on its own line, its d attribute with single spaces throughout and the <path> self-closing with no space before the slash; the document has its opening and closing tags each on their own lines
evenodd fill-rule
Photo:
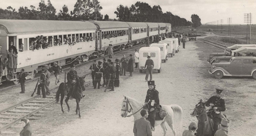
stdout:
<svg viewBox="0 0 256 136">
<path fill-rule="evenodd" d="M 221 97 L 212 96 L 210 99 L 208 99 L 207 102 L 205 102 L 206 106 L 210 106 L 210 103 L 214 104 L 214 107 L 217 107 L 217 111 L 225 111 L 225 101 Z"/>
</svg>

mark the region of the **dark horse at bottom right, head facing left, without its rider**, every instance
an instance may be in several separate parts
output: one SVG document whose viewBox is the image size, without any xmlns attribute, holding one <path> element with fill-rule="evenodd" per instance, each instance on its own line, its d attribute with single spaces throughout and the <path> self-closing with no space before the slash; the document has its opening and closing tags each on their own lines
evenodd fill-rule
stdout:
<svg viewBox="0 0 256 136">
<path fill-rule="evenodd" d="M 205 108 L 202 99 L 195 105 L 191 116 L 196 116 L 198 120 L 198 130 L 196 130 L 196 136 L 213 136 L 213 121 L 207 115 L 207 110 Z"/>
</svg>

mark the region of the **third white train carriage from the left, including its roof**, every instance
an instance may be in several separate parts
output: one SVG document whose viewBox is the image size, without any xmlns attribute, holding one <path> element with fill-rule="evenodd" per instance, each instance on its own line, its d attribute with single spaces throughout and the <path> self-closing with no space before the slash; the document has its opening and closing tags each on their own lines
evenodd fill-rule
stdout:
<svg viewBox="0 0 256 136">
<path fill-rule="evenodd" d="M 129 28 L 129 42 L 138 44 L 147 38 L 147 24 L 143 22 L 127 22 Z"/>
</svg>

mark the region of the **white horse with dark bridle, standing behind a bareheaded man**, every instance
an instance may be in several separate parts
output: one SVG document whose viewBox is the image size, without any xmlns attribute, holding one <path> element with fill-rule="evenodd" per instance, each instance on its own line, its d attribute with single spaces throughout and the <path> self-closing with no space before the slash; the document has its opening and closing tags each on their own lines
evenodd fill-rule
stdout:
<svg viewBox="0 0 256 136">
<path fill-rule="evenodd" d="M 137 101 L 136 99 L 125 97 L 122 102 L 121 116 L 127 117 L 128 112 L 132 112 L 134 121 L 141 118 L 140 111 L 142 110 L 144 103 Z M 176 129 L 174 127 L 174 113 L 178 115 L 179 123 L 182 121 L 182 108 L 179 105 L 161 105 L 162 109 L 167 112 L 166 117 L 163 120 L 156 120 L 155 126 L 161 125 L 163 128 L 163 135 L 166 136 L 167 128 L 165 122 L 170 126 L 174 136 L 176 136 Z M 129 116 L 128 116 L 129 117 Z"/>
</svg>

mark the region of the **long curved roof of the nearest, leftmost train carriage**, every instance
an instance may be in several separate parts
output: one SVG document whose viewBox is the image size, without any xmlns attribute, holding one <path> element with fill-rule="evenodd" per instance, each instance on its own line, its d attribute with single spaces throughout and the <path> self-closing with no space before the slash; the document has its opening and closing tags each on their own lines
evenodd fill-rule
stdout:
<svg viewBox="0 0 256 136">
<path fill-rule="evenodd" d="M 33 33 L 97 29 L 93 23 L 56 20 L 1 20 L 0 28 L 7 33 Z"/>
</svg>

